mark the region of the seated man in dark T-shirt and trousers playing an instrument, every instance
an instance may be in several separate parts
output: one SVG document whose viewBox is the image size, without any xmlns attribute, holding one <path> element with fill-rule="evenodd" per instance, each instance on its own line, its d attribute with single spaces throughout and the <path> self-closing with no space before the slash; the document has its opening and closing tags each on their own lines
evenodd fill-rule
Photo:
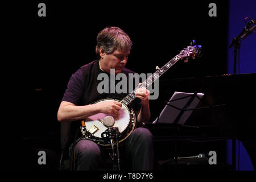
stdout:
<svg viewBox="0 0 256 182">
<path fill-rule="evenodd" d="M 114 69 L 115 75 L 124 73 L 128 76 L 129 73 L 134 73 L 125 68 L 131 45 L 129 36 L 120 28 L 104 28 L 97 36 L 98 60 L 82 66 L 68 82 L 57 119 L 61 122 L 61 147 L 63 150 L 69 148 L 70 158 L 77 170 L 97 170 L 102 161 L 102 155 L 104 155 L 104 149 L 97 142 L 81 136 L 81 131 L 78 131 L 81 121 L 85 119 L 86 125 L 86 118 L 97 116 L 99 113 L 120 118 L 122 115 L 120 111 L 126 107 L 120 100 L 126 97 L 127 93 L 99 93 L 97 89 L 100 81 L 97 78 L 101 73 L 110 76 L 112 73 L 110 69 Z M 127 84 L 129 83 L 127 82 Z M 134 121 L 137 122 L 137 128 L 134 127 L 129 136 L 127 135 L 123 140 L 121 156 L 130 160 L 133 170 L 152 170 L 154 163 L 153 137 L 149 130 L 138 127 L 142 122 L 150 120 L 148 101 L 150 92 L 144 87 L 139 87 L 135 90 L 134 96 L 133 102 L 129 105 L 134 112 L 131 112 L 131 116 L 128 118 L 131 118 L 133 113 L 135 114 Z M 117 100 L 93 104 L 93 102 L 105 98 Z M 97 121 L 96 117 L 96 122 L 99 124 L 93 124 L 96 129 L 88 128 L 90 134 L 99 132 L 99 126 L 102 125 L 101 119 L 99 118 Z"/>
</svg>

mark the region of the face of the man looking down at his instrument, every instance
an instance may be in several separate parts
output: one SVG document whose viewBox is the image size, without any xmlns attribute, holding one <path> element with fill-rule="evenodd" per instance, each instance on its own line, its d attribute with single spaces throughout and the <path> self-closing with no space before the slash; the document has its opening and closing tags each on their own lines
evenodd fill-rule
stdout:
<svg viewBox="0 0 256 182">
<path fill-rule="evenodd" d="M 100 61 L 101 69 L 108 73 L 110 73 L 110 69 L 115 69 L 115 74 L 121 73 L 122 69 L 125 68 L 129 54 L 130 50 L 120 51 L 119 49 L 109 55 L 105 54 Z"/>
</svg>

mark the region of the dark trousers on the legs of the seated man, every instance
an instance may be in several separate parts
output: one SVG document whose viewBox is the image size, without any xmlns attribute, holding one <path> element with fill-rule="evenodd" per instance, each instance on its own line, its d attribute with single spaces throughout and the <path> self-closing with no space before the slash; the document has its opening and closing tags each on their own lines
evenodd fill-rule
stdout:
<svg viewBox="0 0 256 182">
<path fill-rule="evenodd" d="M 148 129 L 139 127 L 119 147 L 121 169 L 130 162 L 132 170 L 152 170 L 154 164 L 153 137 Z M 110 158 L 98 144 L 82 139 L 75 146 L 77 170 L 98 170 L 104 158 Z M 72 158 L 73 156 L 71 156 Z"/>
</svg>

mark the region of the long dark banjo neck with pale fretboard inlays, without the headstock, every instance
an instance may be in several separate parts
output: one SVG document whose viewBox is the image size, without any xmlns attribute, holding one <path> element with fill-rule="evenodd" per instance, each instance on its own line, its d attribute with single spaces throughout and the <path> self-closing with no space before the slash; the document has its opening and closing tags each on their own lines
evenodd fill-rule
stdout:
<svg viewBox="0 0 256 182">
<path fill-rule="evenodd" d="M 142 82 L 140 86 L 137 86 L 132 92 L 127 94 L 125 98 L 122 99 L 122 103 L 126 106 L 129 105 L 134 99 L 135 99 L 135 92 L 138 88 L 144 87 L 148 88 L 154 81 L 158 80 L 160 76 L 163 75 L 168 69 L 172 67 L 177 61 L 179 61 L 181 58 L 180 54 L 176 55 L 174 58 L 172 58 L 168 63 L 166 63 L 162 68 L 158 69 L 154 74 L 152 74 L 150 77 L 148 77 L 145 81 Z"/>
</svg>

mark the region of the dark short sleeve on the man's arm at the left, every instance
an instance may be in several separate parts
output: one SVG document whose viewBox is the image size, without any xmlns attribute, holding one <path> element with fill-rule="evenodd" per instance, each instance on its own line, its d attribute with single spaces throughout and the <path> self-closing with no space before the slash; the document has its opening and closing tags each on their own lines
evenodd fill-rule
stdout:
<svg viewBox="0 0 256 182">
<path fill-rule="evenodd" d="M 85 78 L 82 75 L 81 69 L 76 73 L 73 73 L 69 79 L 67 89 L 61 101 L 71 102 L 75 105 L 79 105 L 85 89 Z"/>
</svg>

